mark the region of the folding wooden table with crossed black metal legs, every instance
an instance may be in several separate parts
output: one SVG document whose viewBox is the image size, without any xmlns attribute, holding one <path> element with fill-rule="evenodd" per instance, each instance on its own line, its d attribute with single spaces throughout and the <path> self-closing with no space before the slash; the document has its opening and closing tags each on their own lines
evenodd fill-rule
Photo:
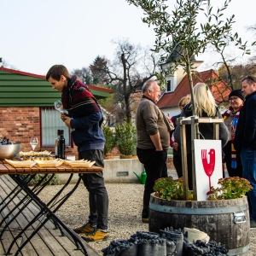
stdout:
<svg viewBox="0 0 256 256">
<path fill-rule="evenodd" d="M 18 250 L 15 252 L 15 255 L 18 255 L 23 247 L 25 247 L 26 243 L 32 239 L 33 236 L 35 236 L 40 230 L 44 224 L 46 224 L 47 221 L 52 220 L 56 226 L 60 227 L 60 229 L 65 230 L 68 234 L 68 236 L 71 236 L 73 238 L 73 241 L 75 241 L 77 245 L 77 249 L 81 250 L 84 255 L 88 255 L 86 252 L 86 248 L 84 247 L 83 242 L 80 240 L 80 236 L 78 236 L 73 230 L 69 229 L 65 224 L 62 223 L 61 219 L 57 218 L 55 215 L 55 212 L 63 205 L 65 201 L 70 197 L 70 195 L 73 194 L 73 192 L 78 188 L 79 183 L 81 181 L 81 177 L 79 176 L 79 180 L 74 185 L 73 189 L 69 192 L 67 192 L 66 195 L 63 195 L 62 192 L 64 189 L 67 188 L 67 184 L 70 183 L 73 173 L 79 173 L 79 174 L 88 174 L 88 173 L 99 173 L 102 172 L 103 168 L 98 166 L 91 166 L 91 167 L 72 167 L 62 164 L 58 167 L 39 167 L 38 165 L 32 166 L 31 168 L 15 168 L 13 166 L 10 166 L 8 163 L 6 163 L 4 160 L 0 160 L 0 175 L 1 174 L 8 174 L 9 177 L 11 177 L 17 186 L 15 189 L 9 193 L 9 195 L 4 198 L 0 204 L 2 205 L 0 212 L 3 211 L 5 207 L 9 205 L 9 203 L 15 198 L 16 195 L 20 193 L 22 190 L 25 192 L 26 196 L 24 196 L 24 199 L 20 201 L 20 205 L 22 204 L 23 207 L 20 208 L 19 212 L 16 213 L 12 218 L 10 218 L 8 221 L 3 218 L 2 222 L 0 224 L 5 224 L 3 227 L 3 230 L 0 232 L 0 239 L 3 236 L 3 233 L 5 230 L 8 229 L 9 224 L 17 218 L 17 216 L 22 212 L 22 209 L 28 205 L 29 202 L 33 201 L 38 205 L 38 207 L 41 209 L 37 216 L 32 218 L 30 222 L 26 225 L 24 230 L 21 230 L 20 233 L 15 236 L 14 241 L 9 246 L 9 250 L 7 254 L 11 253 L 13 245 L 16 243 L 18 238 L 23 237 L 23 233 L 28 228 L 32 227 L 32 224 L 34 224 L 38 218 L 42 218 L 42 222 L 36 229 L 33 230 L 32 235 L 30 237 L 26 238 L 26 241 L 23 241 L 23 243 L 20 245 Z M 49 183 L 50 179 L 54 177 L 55 174 L 58 173 L 70 173 L 70 177 L 67 180 L 67 183 L 65 183 L 61 189 L 52 197 L 52 199 L 46 204 L 44 201 L 41 201 L 41 199 L 38 197 L 38 194 L 44 191 L 44 188 Z M 23 175 L 20 175 L 23 174 Z M 24 175 L 25 174 L 25 175 Z M 27 175 L 26 175 L 27 174 Z M 43 174 L 40 176 L 38 183 L 34 185 L 33 187 L 29 187 L 29 182 L 32 180 L 33 177 L 35 177 L 37 174 Z M 19 205 L 19 206 L 20 206 Z M 17 208 L 19 207 L 15 207 Z M 9 212 L 9 217 L 12 216 L 13 212 L 15 211 L 13 209 L 11 212 Z"/>
</svg>

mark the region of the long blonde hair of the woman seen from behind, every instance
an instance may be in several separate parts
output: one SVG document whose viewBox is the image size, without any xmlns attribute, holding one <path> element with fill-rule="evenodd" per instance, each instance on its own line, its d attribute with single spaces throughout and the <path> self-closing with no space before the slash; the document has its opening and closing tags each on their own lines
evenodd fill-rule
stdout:
<svg viewBox="0 0 256 256">
<path fill-rule="evenodd" d="M 201 117 L 202 111 L 207 113 L 207 116 L 216 115 L 216 103 L 212 96 L 212 92 L 207 84 L 197 83 L 194 87 L 195 96 L 195 114 Z"/>
</svg>

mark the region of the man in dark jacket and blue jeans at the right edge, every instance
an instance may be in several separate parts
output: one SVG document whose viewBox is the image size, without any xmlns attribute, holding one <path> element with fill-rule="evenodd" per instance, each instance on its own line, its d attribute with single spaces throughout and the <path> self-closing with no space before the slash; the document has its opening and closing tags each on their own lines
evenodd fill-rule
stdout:
<svg viewBox="0 0 256 256">
<path fill-rule="evenodd" d="M 247 76 L 241 80 L 241 91 L 246 101 L 236 126 L 234 146 L 241 150 L 242 177 L 253 189 L 248 192 L 251 206 L 250 227 L 256 228 L 256 78 Z"/>
</svg>

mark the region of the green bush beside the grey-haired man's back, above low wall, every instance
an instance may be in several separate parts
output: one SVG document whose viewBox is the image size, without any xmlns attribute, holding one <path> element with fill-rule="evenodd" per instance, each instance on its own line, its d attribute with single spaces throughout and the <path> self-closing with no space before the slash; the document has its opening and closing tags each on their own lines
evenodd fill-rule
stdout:
<svg viewBox="0 0 256 256">
<path fill-rule="evenodd" d="M 115 127 L 115 143 L 124 155 L 136 154 L 137 131 L 131 123 Z"/>
</svg>

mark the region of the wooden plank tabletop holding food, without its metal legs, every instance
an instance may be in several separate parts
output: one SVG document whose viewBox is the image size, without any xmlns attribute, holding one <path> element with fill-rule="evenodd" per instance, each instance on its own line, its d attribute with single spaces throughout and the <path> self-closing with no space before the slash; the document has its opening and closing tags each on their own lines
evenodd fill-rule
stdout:
<svg viewBox="0 0 256 256">
<path fill-rule="evenodd" d="M 15 168 L 9 165 L 5 160 L 0 160 L 1 174 L 37 174 L 37 173 L 96 173 L 102 172 L 103 168 L 98 166 L 91 167 L 72 167 L 62 164 L 58 167 L 39 167 L 38 165 L 31 168 Z"/>
</svg>

